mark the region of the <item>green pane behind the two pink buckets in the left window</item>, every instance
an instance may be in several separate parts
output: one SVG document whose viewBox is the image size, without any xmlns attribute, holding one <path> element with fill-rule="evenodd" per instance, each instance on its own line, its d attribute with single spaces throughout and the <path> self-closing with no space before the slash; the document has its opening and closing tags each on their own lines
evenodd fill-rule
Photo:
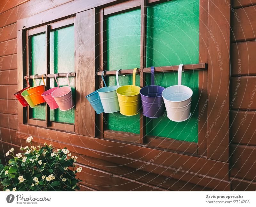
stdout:
<svg viewBox="0 0 256 207">
<path fill-rule="evenodd" d="M 75 72 L 75 33 L 74 26 L 65 27 L 50 33 L 50 71 L 51 73 Z M 66 78 L 57 79 L 60 86 L 67 86 Z M 75 78 L 69 78 L 73 98 L 75 97 Z M 50 80 L 50 87 L 58 86 L 54 78 Z M 75 108 L 60 111 L 59 108 L 50 110 L 50 119 L 55 122 L 74 123 Z"/>
</svg>

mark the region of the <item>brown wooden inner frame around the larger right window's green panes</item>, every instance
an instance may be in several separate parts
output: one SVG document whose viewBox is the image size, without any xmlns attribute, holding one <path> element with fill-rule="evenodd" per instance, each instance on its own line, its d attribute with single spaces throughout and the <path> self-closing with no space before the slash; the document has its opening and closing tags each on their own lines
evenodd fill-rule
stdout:
<svg viewBox="0 0 256 207">
<path fill-rule="evenodd" d="M 140 35 L 140 69 L 136 73 L 140 74 L 140 87 L 145 86 L 145 73 L 150 72 L 150 68 L 146 68 L 146 28 L 147 28 L 147 5 L 149 4 L 159 4 L 166 1 L 157 1 L 157 0 L 129 0 L 121 2 L 119 4 L 111 5 L 104 7 L 99 11 L 99 71 L 97 72 L 98 77 L 101 76 L 102 71 L 106 70 L 104 68 L 104 60 L 106 59 L 105 51 L 103 51 L 104 44 L 106 44 L 106 28 L 105 28 L 105 18 L 111 15 L 124 13 L 127 11 L 135 10 L 140 8 L 141 15 L 141 35 Z M 204 8 L 205 9 L 205 8 Z M 199 16 L 203 15 L 203 11 L 200 7 Z M 206 18 L 208 21 L 208 19 Z M 208 22 L 207 22 L 208 23 Z M 206 22 L 200 23 L 199 33 L 204 33 L 203 24 Z M 205 41 L 202 37 L 199 37 L 199 45 L 203 45 L 202 41 Z M 184 65 L 183 70 L 198 70 L 199 71 L 199 108 L 203 107 L 205 100 L 207 100 L 207 58 L 204 57 L 205 53 L 207 54 L 207 48 L 199 46 L 199 63 Z M 178 71 L 178 65 L 176 66 L 164 66 L 164 67 L 155 67 L 155 72 L 170 72 Z M 132 74 L 133 69 L 120 70 L 120 74 Z M 106 71 L 104 75 L 115 75 L 116 70 Z M 103 87 L 103 83 L 99 78 L 98 82 L 100 83 L 99 88 Z M 199 110 L 198 115 L 200 115 L 201 110 Z M 105 138 L 122 140 L 128 143 L 138 143 L 146 144 L 152 147 L 160 147 L 165 149 L 170 149 L 178 152 L 188 152 L 191 154 L 198 154 L 205 156 L 207 152 L 207 139 L 204 136 L 204 132 L 207 126 L 207 109 L 204 110 L 204 115 L 198 121 L 198 143 L 180 141 L 172 138 L 165 137 L 155 137 L 155 136 L 146 136 L 146 117 L 143 115 L 142 110 L 140 110 L 140 134 L 114 131 L 114 130 L 104 130 L 104 120 L 103 115 L 99 115 L 99 131 L 98 134 Z M 205 124 L 206 123 L 206 124 Z M 103 133 L 102 133 L 103 132 Z M 132 137 L 132 138 L 131 138 Z"/>
</svg>

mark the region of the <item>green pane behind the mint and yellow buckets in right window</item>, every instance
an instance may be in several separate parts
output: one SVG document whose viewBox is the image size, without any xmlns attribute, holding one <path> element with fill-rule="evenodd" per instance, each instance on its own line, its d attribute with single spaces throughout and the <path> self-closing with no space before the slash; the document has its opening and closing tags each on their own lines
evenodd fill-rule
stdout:
<svg viewBox="0 0 256 207">
<path fill-rule="evenodd" d="M 140 10 L 129 11 L 106 19 L 107 70 L 140 67 Z M 106 77 L 107 85 L 116 85 L 116 77 Z M 119 76 L 120 85 L 132 85 L 132 75 Z M 140 77 L 136 75 L 136 85 Z M 104 113 L 105 129 L 140 133 L 140 115 L 124 116 L 120 112 Z"/>
</svg>

